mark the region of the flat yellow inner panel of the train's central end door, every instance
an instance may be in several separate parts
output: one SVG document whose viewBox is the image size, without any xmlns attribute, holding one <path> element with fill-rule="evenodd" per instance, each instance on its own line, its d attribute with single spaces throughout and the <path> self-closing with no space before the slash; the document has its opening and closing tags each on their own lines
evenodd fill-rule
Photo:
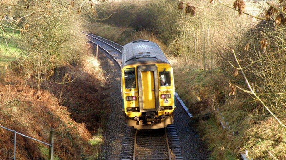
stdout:
<svg viewBox="0 0 286 160">
<path fill-rule="evenodd" d="M 155 109 L 154 71 L 141 72 L 143 109 Z"/>
</svg>

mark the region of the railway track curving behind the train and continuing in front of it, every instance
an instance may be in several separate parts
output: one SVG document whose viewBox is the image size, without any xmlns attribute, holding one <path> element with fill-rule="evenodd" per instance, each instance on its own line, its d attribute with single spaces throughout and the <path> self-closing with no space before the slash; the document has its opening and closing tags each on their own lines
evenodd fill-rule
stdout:
<svg viewBox="0 0 286 160">
<path fill-rule="evenodd" d="M 108 53 L 121 67 L 122 45 L 88 34 L 89 41 Z M 125 126 L 121 159 L 183 159 L 175 125 L 165 129 L 136 130 Z"/>
</svg>

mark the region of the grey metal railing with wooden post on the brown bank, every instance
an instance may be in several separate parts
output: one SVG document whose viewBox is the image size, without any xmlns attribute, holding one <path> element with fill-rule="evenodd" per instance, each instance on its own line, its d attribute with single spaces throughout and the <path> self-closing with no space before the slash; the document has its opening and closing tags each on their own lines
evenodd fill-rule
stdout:
<svg viewBox="0 0 286 160">
<path fill-rule="evenodd" d="M 37 140 L 35 138 L 26 136 L 26 135 L 24 135 L 22 133 L 19 133 L 17 131 L 8 129 L 8 128 L 4 127 L 4 126 L 0 126 L 0 127 L 3 128 L 3 129 L 6 129 L 8 131 L 14 132 L 14 157 L 13 157 L 14 160 L 16 159 L 16 134 L 19 134 L 19 135 L 21 135 L 23 137 L 30 138 L 32 140 L 35 140 L 37 142 L 40 142 L 42 144 L 45 144 L 45 145 L 49 146 L 49 157 L 48 157 L 48 159 L 49 160 L 53 160 L 54 159 L 54 131 L 50 131 L 49 143 L 45 143 L 45 142 L 42 142 L 42 141 Z"/>
</svg>

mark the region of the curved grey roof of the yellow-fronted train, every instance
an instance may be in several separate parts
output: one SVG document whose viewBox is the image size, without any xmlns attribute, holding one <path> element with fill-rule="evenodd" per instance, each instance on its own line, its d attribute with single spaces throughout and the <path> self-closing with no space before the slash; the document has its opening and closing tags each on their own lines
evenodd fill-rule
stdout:
<svg viewBox="0 0 286 160">
<path fill-rule="evenodd" d="M 137 40 L 123 46 L 122 68 L 130 64 L 169 63 L 160 47 L 148 40 Z"/>
</svg>

